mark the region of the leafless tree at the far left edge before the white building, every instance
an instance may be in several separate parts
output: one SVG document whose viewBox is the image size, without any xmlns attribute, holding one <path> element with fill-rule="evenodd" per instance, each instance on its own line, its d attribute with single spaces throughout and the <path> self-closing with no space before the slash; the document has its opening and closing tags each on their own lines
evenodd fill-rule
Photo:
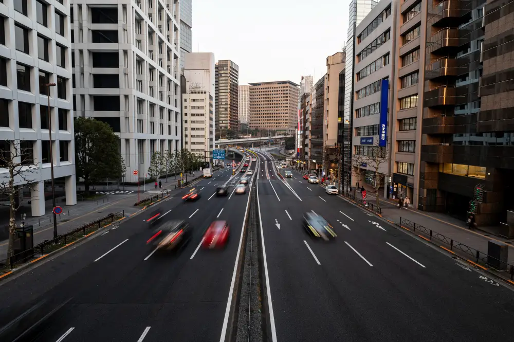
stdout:
<svg viewBox="0 0 514 342">
<path fill-rule="evenodd" d="M 0 145 L 0 168 L 7 169 L 7 173 L 1 177 L 0 194 L 9 198 L 9 244 L 7 247 L 7 259 L 14 255 L 13 244 L 16 236 L 16 211 L 22 204 L 20 190 L 27 188 L 33 179 L 27 176 L 38 167 L 34 164 L 32 149 L 23 148 L 19 140 L 8 141 Z M 16 201 L 16 196 L 18 201 Z"/>
</svg>

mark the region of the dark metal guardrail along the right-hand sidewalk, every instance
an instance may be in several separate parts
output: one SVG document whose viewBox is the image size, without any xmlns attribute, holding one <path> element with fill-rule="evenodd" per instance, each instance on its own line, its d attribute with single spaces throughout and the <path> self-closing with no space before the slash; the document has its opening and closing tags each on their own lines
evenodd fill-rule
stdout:
<svg viewBox="0 0 514 342">
<path fill-rule="evenodd" d="M 444 236 L 441 233 L 438 233 L 435 230 L 432 230 L 430 228 L 427 228 L 425 226 L 422 226 L 420 224 L 417 224 L 414 221 L 410 221 L 406 218 L 400 217 L 400 226 L 402 227 L 410 227 L 413 232 L 415 233 L 421 233 L 427 236 L 427 240 L 430 241 L 436 241 L 436 242 L 442 242 L 446 246 L 448 246 L 447 249 L 453 251 L 457 251 L 458 254 L 461 256 L 466 256 L 468 258 L 473 258 L 475 263 L 481 263 L 484 265 L 487 265 L 488 267 L 493 267 L 495 269 L 498 269 L 499 271 L 505 271 L 510 274 L 510 279 L 514 279 L 514 265 L 511 265 L 505 261 L 502 261 L 500 259 L 494 258 L 493 256 L 488 255 L 487 253 L 484 253 L 478 249 L 469 247 L 468 245 L 465 245 L 461 242 L 458 242 L 456 240 L 453 240 L 452 238 L 449 238 L 447 236 Z M 409 229 L 409 230 L 411 230 Z M 444 246 L 442 246 L 444 247 Z M 500 267 L 497 267 L 497 265 L 500 265 Z M 504 267 L 501 267 L 501 266 Z"/>
</svg>

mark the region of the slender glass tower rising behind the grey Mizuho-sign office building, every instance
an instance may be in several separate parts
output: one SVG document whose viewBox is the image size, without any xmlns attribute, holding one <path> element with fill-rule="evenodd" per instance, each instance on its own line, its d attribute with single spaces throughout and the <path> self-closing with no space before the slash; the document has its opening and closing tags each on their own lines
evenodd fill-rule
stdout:
<svg viewBox="0 0 514 342">
<path fill-rule="evenodd" d="M 348 33 L 345 46 L 346 62 L 344 84 L 344 117 L 343 117 L 343 160 L 342 184 L 350 186 L 352 179 L 352 119 L 354 94 L 354 58 L 355 58 L 355 29 L 377 4 L 373 0 L 352 0 L 348 12 Z M 352 75 L 352 77 L 350 77 Z"/>
</svg>

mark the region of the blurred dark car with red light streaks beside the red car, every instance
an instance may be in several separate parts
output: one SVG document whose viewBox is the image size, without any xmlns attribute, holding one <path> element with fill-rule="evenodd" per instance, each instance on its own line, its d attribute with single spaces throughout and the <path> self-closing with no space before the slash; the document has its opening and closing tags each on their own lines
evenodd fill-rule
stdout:
<svg viewBox="0 0 514 342">
<path fill-rule="evenodd" d="M 192 230 L 185 220 L 167 221 L 156 229 L 146 244 L 153 244 L 161 250 L 176 249 L 191 239 Z"/>
</svg>

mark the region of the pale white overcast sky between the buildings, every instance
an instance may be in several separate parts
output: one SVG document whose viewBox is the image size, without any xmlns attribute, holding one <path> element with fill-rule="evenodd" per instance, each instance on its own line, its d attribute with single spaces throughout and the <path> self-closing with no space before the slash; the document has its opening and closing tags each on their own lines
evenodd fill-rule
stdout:
<svg viewBox="0 0 514 342">
<path fill-rule="evenodd" d="M 239 66 L 239 84 L 314 82 L 346 41 L 350 0 L 193 0 L 192 52 Z"/>
</svg>

